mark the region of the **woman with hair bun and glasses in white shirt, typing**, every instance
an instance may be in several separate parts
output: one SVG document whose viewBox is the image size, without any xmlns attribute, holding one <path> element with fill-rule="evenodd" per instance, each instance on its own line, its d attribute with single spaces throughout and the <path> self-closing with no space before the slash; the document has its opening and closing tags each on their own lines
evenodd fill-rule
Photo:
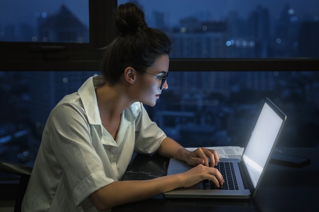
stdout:
<svg viewBox="0 0 319 212">
<path fill-rule="evenodd" d="M 51 111 L 42 136 L 22 211 L 97 211 L 150 198 L 210 179 L 219 187 L 215 150 L 190 152 L 150 120 L 168 88 L 171 43 L 145 23 L 134 4 L 115 13 L 118 37 L 105 49 L 103 76 L 89 78 Z M 188 172 L 150 180 L 119 181 L 134 152 L 157 152 L 190 165 Z"/>
</svg>

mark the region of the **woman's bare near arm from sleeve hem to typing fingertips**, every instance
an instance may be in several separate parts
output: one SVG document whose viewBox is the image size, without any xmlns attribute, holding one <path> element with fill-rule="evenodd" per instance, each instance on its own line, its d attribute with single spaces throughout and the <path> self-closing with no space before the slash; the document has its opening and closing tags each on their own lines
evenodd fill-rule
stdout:
<svg viewBox="0 0 319 212">
<path fill-rule="evenodd" d="M 117 205 L 151 198 L 179 187 L 190 187 L 204 179 L 214 181 L 219 187 L 223 176 L 216 168 L 198 165 L 191 170 L 148 180 L 115 181 L 93 192 L 89 199 L 98 210 L 107 210 Z"/>
</svg>

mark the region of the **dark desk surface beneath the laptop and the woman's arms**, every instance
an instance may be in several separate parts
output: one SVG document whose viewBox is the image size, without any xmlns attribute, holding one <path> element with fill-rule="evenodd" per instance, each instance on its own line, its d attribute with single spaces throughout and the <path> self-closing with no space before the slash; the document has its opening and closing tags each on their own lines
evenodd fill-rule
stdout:
<svg viewBox="0 0 319 212">
<path fill-rule="evenodd" d="M 319 211 L 319 149 L 280 150 L 285 154 L 310 158 L 311 162 L 301 168 L 270 164 L 253 199 L 166 199 L 161 194 L 115 207 L 112 211 Z M 123 180 L 164 176 L 168 163 L 168 159 L 156 154 L 137 155 Z"/>
</svg>

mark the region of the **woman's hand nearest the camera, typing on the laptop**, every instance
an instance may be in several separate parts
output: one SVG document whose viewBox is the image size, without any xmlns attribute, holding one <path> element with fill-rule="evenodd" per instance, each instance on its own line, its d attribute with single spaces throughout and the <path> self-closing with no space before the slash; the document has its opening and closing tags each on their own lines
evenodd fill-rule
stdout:
<svg viewBox="0 0 319 212">
<path fill-rule="evenodd" d="M 179 174 L 181 178 L 181 187 L 188 188 L 194 186 L 202 180 L 212 180 L 215 185 L 219 188 L 224 184 L 225 180 L 223 175 L 217 168 L 204 166 L 199 164 L 189 171 Z"/>
</svg>

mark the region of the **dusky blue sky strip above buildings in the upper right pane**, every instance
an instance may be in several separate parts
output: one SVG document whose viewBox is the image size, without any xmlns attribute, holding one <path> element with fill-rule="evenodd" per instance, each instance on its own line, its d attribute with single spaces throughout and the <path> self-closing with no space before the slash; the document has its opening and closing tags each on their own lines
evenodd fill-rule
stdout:
<svg viewBox="0 0 319 212">
<path fill-rule="evenodd" d="M 314 0 L 184 0 L 183 4 L 180 4 L 178 1 L 170 0 L 154 0 L 151 2 L 142 0 L 119 0 L 118 4 L 126 2 L 136 2 L 143 6 L 146 21 L 149 21 L 151 24 L 154 21 L 152 17 L 153 12 L 164 12 L 164 15 L 167 17 L 167 19 L 172 22 L 170 26 L 178 24 L 179 20 L 188 16 L 202 16 L 202 18 L 205 20 L 223 20 L 231 11 L 237 11 L 241 18 L 246 19 L 248 18 L 249 13 L 255 10 L 258 5 L 268 8 L 270 10 L 270 16 L 272 19 L 279 18 L 285 5 L 289 5 L 290 8 L 294 10 L 295 14 L 301 19 L 304 19 L 306 14 L 313 18 L 319 17 L 319 2 Z M 311 5 L 311 7 L 309 7 L 309 5 Z M 210 15 L 207 15 L 207 11 L 210 13 Z"/>
</svg>

